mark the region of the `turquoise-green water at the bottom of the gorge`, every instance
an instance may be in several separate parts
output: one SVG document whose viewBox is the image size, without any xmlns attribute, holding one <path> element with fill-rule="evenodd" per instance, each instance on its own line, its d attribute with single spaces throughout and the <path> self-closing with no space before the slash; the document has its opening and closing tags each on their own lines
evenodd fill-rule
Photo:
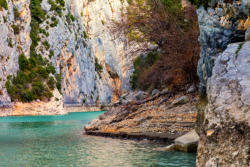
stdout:
<svg viewBox="0 0 250 167">
<path fill-rule="evenodd" d="M 195 166 L 195 154 L 155 151 L 159 143 L 84 135 L 101 113 L 0 118 L 0 167 Z"/>
</svg>

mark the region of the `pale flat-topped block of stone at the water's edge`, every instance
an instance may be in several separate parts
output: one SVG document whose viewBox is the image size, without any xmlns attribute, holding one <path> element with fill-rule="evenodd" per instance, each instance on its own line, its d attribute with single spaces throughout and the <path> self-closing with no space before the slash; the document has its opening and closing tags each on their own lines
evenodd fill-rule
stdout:
<svg viewBox="0 0 250 167">
<path fill-rule="evenodd" d="M 175 139 L 175 150 L 184 152 L 196 152 L 199 136 L 192 130 L 187 134 Z"/>
</svg>

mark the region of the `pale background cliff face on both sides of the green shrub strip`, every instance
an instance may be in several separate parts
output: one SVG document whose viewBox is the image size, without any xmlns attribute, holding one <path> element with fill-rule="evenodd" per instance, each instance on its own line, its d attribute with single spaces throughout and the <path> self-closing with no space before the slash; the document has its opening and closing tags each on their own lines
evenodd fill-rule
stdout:
<svg viewBox="0 0 250 167">
<path fill-rule="evenodd" d="M 30 0 L 6 1 L 0 9 L 0 104 L 11 106 L 5 89 L 8 75 L 18 71 L 18 57 L 30 56 Z M 61 74 L 65 104 L 108 104 L 129 91 L 132 70 L 126 38 L 114 38 L 112 22 L 124 12 L 118 0 L 42 0 L 46 19 L 40 24 L 36 52 Z M 61 7 L 60 7 L 61 5 Z M 17 14 L 18 13 L 18 14 Z M 18 18 L 16 15 L 19 15 Z M 15 28 L 18 27 L 19 32 Z M 62 105 L 62 104 L 61 104 Z"/>
</svg>

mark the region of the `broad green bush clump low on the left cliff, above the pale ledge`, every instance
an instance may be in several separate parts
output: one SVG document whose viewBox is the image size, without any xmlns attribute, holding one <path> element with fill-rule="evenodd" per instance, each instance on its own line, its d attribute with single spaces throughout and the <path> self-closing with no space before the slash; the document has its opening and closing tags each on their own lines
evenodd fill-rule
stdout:
<svg viewBox="0 0 250 167">
<path fill-rule="evenodd" d="M 50 76 L 55 74 L 55 68 L 51 64 L 46 64 L 41 57 L 40 59 L 37 60 L 34 56 L 27 59 L 23 53 L 19 56 L 19 71 L 16 76 L 9 76 L 5 83 L 12 101 L 30 102 L 36 99 L 49 99 L 53 96 L 52 91 L 55 86 L 61 89 L 54 77 Z"/>
</svg>

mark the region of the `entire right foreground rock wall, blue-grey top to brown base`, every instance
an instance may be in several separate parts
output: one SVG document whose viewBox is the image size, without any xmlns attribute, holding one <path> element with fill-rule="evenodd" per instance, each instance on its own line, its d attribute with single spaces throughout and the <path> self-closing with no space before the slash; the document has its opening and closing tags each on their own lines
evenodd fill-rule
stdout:
<svg viewBox="0 0 250 167">
<path fill-rule="evenodd" d="M 198 75 L 208 104 L 198 113 L 198 167 L 249 166 L 250 1 L 211 1 L 197 10 Z M 232 44 L 231 44 L 232 43 Z"/>
</svg>

